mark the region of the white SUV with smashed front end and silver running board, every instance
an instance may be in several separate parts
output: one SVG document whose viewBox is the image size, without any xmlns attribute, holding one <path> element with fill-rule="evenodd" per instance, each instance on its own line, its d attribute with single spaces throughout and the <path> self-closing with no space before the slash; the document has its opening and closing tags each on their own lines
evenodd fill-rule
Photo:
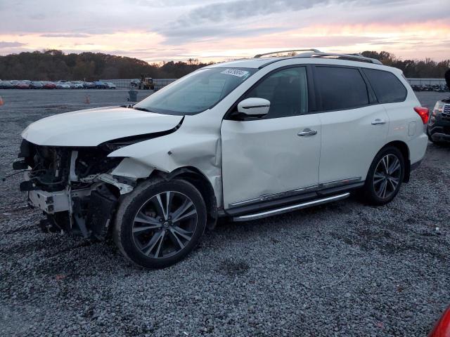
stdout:
<svg viewBox="0 0 450 337">
<path fill-rule="evenodd" d="M 134 106 L 23 131 L 21 190 L 46 229 L 105 239 L 143 267 L 176 263 L 219 217 L 344 199 L 391 201 L 425 154 L 428 109 L 392 67 L 302 51 L 210 65 Z"/>
</svg>

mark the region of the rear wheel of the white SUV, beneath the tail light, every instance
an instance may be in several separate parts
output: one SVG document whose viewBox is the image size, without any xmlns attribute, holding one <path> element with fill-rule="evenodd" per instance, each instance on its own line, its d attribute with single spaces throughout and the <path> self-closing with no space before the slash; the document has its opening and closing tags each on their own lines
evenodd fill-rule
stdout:
<svg viewBox="0 0 450 337">
<path fill-rule="evenodd" d="M 405 172 L 405 159 L 397 147 L 385 147 L 373 159 L 364 184 L 368 204 L 381 206 L 394 199 Z"/>
</svg>

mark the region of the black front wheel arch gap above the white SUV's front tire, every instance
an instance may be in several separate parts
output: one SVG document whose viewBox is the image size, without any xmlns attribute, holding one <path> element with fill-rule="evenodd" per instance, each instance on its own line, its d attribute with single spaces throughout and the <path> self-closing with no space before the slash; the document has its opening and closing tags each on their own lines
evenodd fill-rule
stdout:
<svg viewBox="0 0 450 337">
<path fill-rule="evenodd" d="M 193 166 L 185 166 L 175 169 L 172 172 L 163 172 L 155 170 L 148 178 L 158 177 L 164 180 L 172 180 L 174 178 L 186 180 L 191 183 L 202 194 L 207 209 L 207 228 L 209 230 L 214 229 L 217 224 L 218 212 L 217 212 L 217 199 L 214 194 L 214 188 L 212 187 L 210 180 L 198 169 Z"/>
</svg>

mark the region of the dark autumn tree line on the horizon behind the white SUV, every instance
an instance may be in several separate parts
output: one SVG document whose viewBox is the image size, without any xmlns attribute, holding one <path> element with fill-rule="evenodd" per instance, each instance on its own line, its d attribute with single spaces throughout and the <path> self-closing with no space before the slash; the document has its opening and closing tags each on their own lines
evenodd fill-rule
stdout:
<svg viewBox="0 0 450 337">
<path fill-rule="evenodd" d="M 450 60 L 400 60 L 386 51 L 364 51 L 362 55 L 397 67 L 403 70 L 406 77 L 442 78 L 450 67 Z M 189 59 L 187 62 L 170 61 L 159 65 L 105 53 L 65 54 L 58 50 L 33 51 L 0 56 L 0 79 L 95 81 L 134 79 L 140 78 L 141 74 L 148 74 L 148 77 L 155 79 L 177 79 L 205 65 L 207 64 L 197 59 Z"/>
</svg>

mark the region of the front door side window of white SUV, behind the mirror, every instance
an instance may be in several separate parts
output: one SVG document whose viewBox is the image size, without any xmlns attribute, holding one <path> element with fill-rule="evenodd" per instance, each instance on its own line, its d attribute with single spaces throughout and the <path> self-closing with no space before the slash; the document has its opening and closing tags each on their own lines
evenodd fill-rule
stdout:
<svg viewBox="0 0 450 337">
<path fill-rule="evenodd" d="M 305 67 L 280 70 L 263 79 L 245 98 L 265 98 L 270 110 L 264 118 L 304 114 L 308 111 L 308 84 Z"/>
</svg>

